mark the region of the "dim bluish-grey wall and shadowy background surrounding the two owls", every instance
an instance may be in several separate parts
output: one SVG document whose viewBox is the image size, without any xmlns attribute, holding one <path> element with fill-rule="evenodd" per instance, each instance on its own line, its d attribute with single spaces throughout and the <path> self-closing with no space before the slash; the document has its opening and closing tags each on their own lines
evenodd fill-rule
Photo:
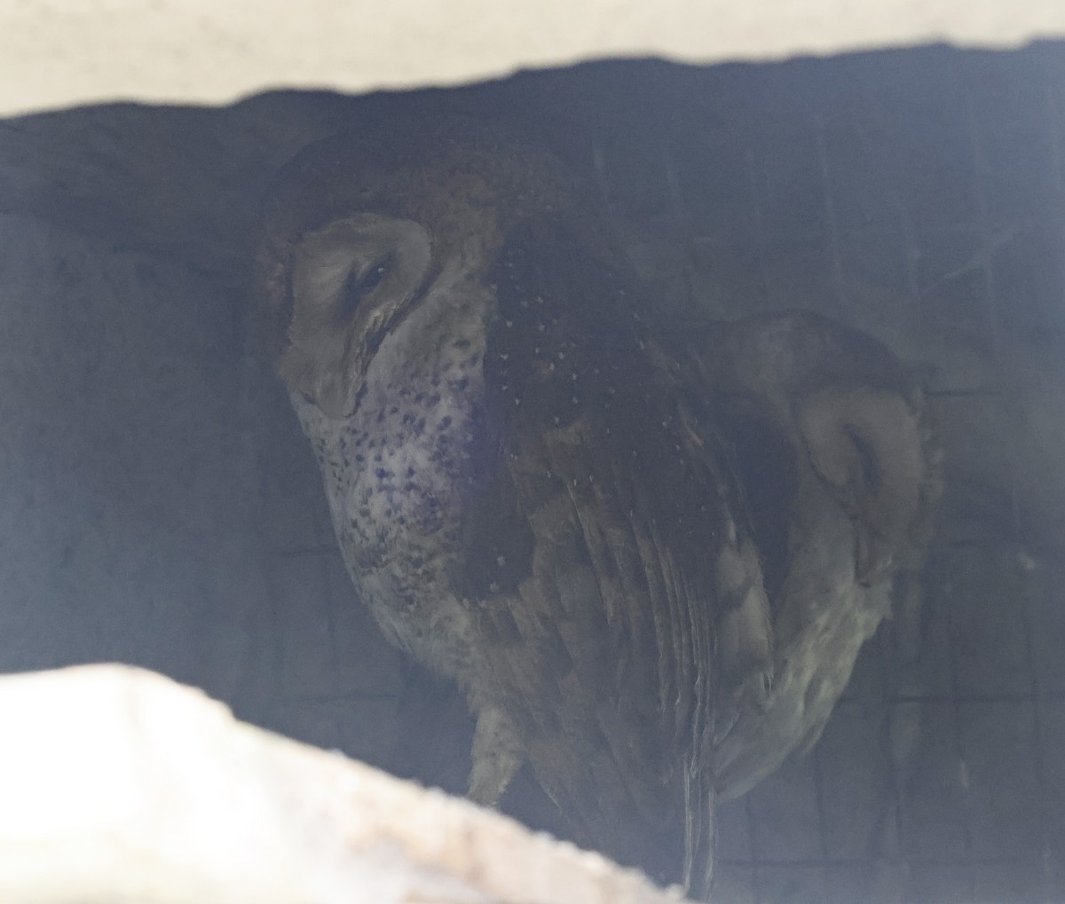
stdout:
<svg viewBox="0 0 1065 904">
<path fill-rule="evenodd" d="M 867 645 L 813 755 L 722 807 L 721 900 L 1065 898 L 1061 45 L 0 122 L 0 669 L 143 664 L 464 789 L 464 704 L 355 598 L 245 341 L 276 168 L 441 109 L 515 122 L 585 176 L 678 325 L 817 310 L 932 401 L 947 492 L 921 605 Z M 553 825 L 528 776 L 505 805 Z"/>
</svg>

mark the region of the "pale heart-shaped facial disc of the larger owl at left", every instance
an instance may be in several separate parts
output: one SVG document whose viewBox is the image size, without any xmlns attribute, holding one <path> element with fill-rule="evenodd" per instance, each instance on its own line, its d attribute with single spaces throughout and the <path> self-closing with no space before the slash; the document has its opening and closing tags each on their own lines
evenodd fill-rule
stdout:
<svg viewBox="0 0 1065 904">
<path fill-rule="evenodd" d="M 428 232 L 374 213 L 333 220 L 293 252 L 292 323 L 279 371 L 330 417 L 349 414 L 366 367 L 425 283 Z"/>
</svg>

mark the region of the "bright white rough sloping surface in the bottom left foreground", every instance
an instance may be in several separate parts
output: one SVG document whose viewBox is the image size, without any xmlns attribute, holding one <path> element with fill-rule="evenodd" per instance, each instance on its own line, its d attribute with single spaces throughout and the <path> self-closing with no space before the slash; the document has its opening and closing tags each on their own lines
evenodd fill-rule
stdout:
<svg viewBox="0 0 1065 904">
<path fill-rule="evenodd" d="M 678 900 L 152 672 L 0 678 L 0 725 L 4 904 Z"/>
</svg>

